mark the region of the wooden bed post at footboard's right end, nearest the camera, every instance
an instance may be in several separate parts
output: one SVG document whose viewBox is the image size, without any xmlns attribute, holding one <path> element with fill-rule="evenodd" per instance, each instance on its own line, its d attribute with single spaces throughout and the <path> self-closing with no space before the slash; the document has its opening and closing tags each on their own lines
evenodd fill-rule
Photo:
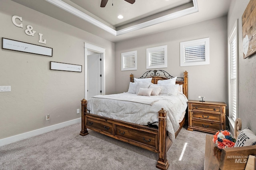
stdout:
<svg viewBox="0 0 256 170">
<path fill-rule="evenodd" d="M 169 162 L 167 160 L 167 147 L 166 147 L 166 137 L 167 137 L 167 129 L 166 129 L 166 113 L 167 111 L 163 108 L 158 111 L 158 144 L 159 144 L 159 152 L 158 152 L 158 161 L 156 164 L 156 168 L 161 170 L 167 170 L 169 167 Z"/>
</svg>

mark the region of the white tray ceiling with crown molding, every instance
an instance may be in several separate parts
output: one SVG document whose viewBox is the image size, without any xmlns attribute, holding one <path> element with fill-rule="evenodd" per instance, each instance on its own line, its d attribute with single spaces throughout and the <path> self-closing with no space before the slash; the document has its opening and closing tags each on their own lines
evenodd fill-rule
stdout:
<svg viewBox="0 0 256 170">
<path fill-rule="evenodd" d="M 108 0 L 105 8 L 101 0 L 12 1 L 112 42 L 225 16 L 230 6 L 230 0 Z"/>
</svg>

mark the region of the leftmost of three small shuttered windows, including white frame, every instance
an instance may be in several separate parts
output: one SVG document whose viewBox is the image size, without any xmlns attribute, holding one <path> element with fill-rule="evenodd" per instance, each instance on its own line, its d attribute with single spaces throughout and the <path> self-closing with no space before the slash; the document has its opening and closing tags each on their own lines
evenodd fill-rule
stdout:
<svg viewBox="0 0 256 170">
<path fill-rule="evenodd" d="M 137 51 L 121 53 L 121 71 L 137 70 Z"/>
</svg>

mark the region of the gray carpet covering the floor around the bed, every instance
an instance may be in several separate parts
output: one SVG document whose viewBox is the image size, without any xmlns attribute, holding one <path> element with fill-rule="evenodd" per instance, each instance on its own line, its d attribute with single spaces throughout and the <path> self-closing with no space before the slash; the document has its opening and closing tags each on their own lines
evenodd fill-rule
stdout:
<svg viewBox="0 0 256 170">
<path fill-rule="evenodd" d="M 80 129 L 78 123 L 4 145 L 0 147 L 0 169 L 158 170 L 156 153 L 91 130 L 82 137 Z M 169 170 L 203 170 L 206 134 L 183 127 L 167 152 Z"/>
</svg>

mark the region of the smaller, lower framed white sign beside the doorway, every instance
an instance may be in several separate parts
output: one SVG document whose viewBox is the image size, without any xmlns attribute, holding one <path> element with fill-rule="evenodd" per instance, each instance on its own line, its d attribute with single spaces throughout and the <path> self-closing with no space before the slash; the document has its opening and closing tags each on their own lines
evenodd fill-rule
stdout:
<svg viewBox="0 0 256 170">
<path fill-rule="evenodd" d="M 50 61 L 50 70 L 82 72 L 82 65 Z"/>
</svg>

